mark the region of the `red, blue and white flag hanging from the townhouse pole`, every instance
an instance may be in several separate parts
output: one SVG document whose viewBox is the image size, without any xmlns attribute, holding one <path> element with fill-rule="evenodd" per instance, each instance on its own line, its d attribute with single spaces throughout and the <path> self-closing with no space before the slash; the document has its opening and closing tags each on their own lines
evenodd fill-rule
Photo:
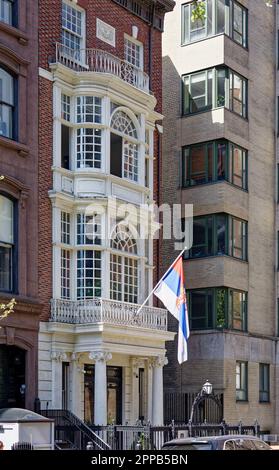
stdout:
<svg viewBox="0 0 279 470">
<path fill-rule="evenodd" d="M 178 320 L 177 359 L 181 364 L 188 359 L 187 340 L 190 335 L 182 256 L 175 261 L 162 277 L 154 294 Z"/>
</svg>

